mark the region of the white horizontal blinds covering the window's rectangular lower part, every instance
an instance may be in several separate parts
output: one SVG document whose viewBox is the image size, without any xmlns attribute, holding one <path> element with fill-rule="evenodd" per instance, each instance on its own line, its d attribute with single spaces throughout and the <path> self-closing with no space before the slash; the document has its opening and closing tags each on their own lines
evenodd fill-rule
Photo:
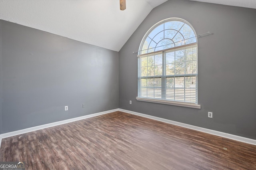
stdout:
<svg viewBox="0 0 256 170">
<path fill-rule="evenodd" d="M 138 97 L 198 103 L 197 45 L 138 57 Z"/>
</svg>

